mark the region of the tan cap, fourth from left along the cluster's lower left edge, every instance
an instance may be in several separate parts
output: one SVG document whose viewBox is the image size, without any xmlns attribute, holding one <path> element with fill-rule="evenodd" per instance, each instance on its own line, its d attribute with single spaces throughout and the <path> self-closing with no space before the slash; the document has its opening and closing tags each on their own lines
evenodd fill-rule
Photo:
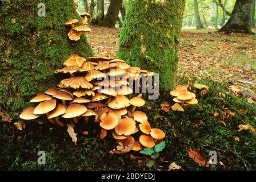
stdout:
<svg viewBox="0 0 256 182">
<path fill-rule="evenodd" d="M 63 118 L 74 118 L 82 115 L 87 111 L 86 106 L 81 104 L 70 104 L 67 106 L 66 113 L 62 115 Z"/>
</svg>

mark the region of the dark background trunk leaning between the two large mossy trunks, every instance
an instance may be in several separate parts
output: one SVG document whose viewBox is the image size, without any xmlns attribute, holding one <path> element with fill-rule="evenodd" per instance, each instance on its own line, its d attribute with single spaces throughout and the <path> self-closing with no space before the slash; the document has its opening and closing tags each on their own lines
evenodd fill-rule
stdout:
<svg viewBox="0 0 256 182">
<path fill-rule="evenodd" d="M 122 5 L 122 0 L 111 0 L 109 9 L 107 10 L 106 16 L 99 23 L 102 27 L 115 27 L 115 23 L 118 20 L 118 14 Z"/>
</svg>

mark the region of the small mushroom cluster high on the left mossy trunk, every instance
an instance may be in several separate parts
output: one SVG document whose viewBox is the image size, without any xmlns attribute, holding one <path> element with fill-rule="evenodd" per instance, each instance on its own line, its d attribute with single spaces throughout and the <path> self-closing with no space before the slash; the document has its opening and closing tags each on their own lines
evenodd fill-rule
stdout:
<svg viewBox="0 0 256 182">
<path fill-rule="evenodd" d="M 82 13 L 82 25 L 75 27 L 75 23 L 79 22 L 78 19 L 70 19 L 68 20 L 65 24 L 67 26 L 71 26 L 71 29 L 69 31 L 69 36 L 70 40 L 79 40 L 83 32 L 90 32 L 91 28 L 87 27 L 87 20 L 91 18 L 91 15 L 88 13 Z"/>
</svg>

